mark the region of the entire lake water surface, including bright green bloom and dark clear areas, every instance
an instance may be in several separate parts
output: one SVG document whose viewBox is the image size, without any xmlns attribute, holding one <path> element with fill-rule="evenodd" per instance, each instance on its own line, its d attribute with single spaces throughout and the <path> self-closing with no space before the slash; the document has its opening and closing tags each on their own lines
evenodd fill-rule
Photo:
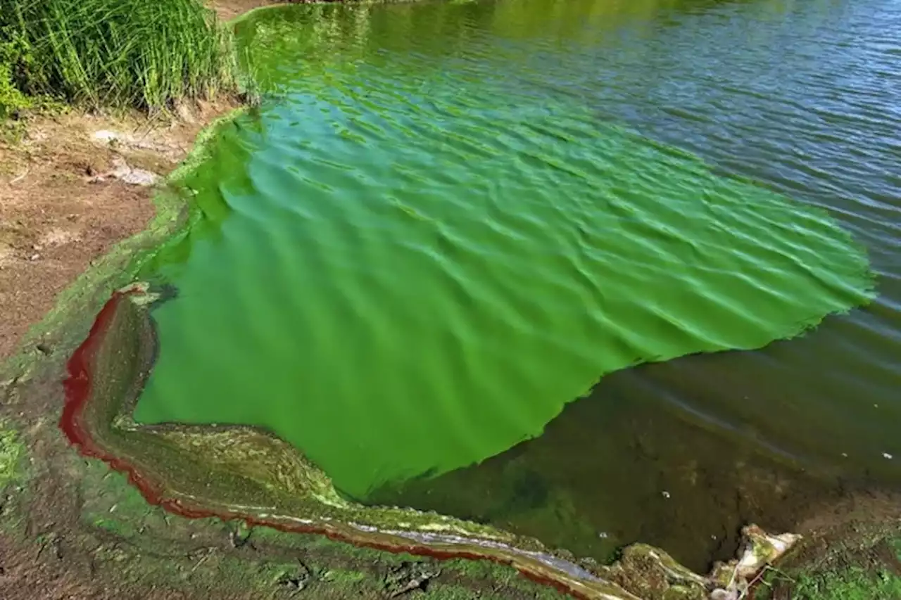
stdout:
<svg viewBox="0 0 901 600">
<path fill-rule="evenodd" d="M 899 479 L 901 5 L 303 6 L 239 34 L 265 100 L 145 269 L 177 295 L 139 421 L 263 426 L 365 502 L 698 568 Z"/>
</svg>

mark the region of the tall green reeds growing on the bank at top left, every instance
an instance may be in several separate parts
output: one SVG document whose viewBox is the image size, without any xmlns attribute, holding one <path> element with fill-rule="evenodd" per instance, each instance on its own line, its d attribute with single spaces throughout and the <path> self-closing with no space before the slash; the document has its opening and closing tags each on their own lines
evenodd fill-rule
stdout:
<svg viewBox="0 0 901 600">
<path fill-rule="evenodd" d="M 18 90 L 80 104 L 156 109 L 234 83 L 231 33 L 199 0 L 0 0 L 4 47 Z"/>
</svg>

